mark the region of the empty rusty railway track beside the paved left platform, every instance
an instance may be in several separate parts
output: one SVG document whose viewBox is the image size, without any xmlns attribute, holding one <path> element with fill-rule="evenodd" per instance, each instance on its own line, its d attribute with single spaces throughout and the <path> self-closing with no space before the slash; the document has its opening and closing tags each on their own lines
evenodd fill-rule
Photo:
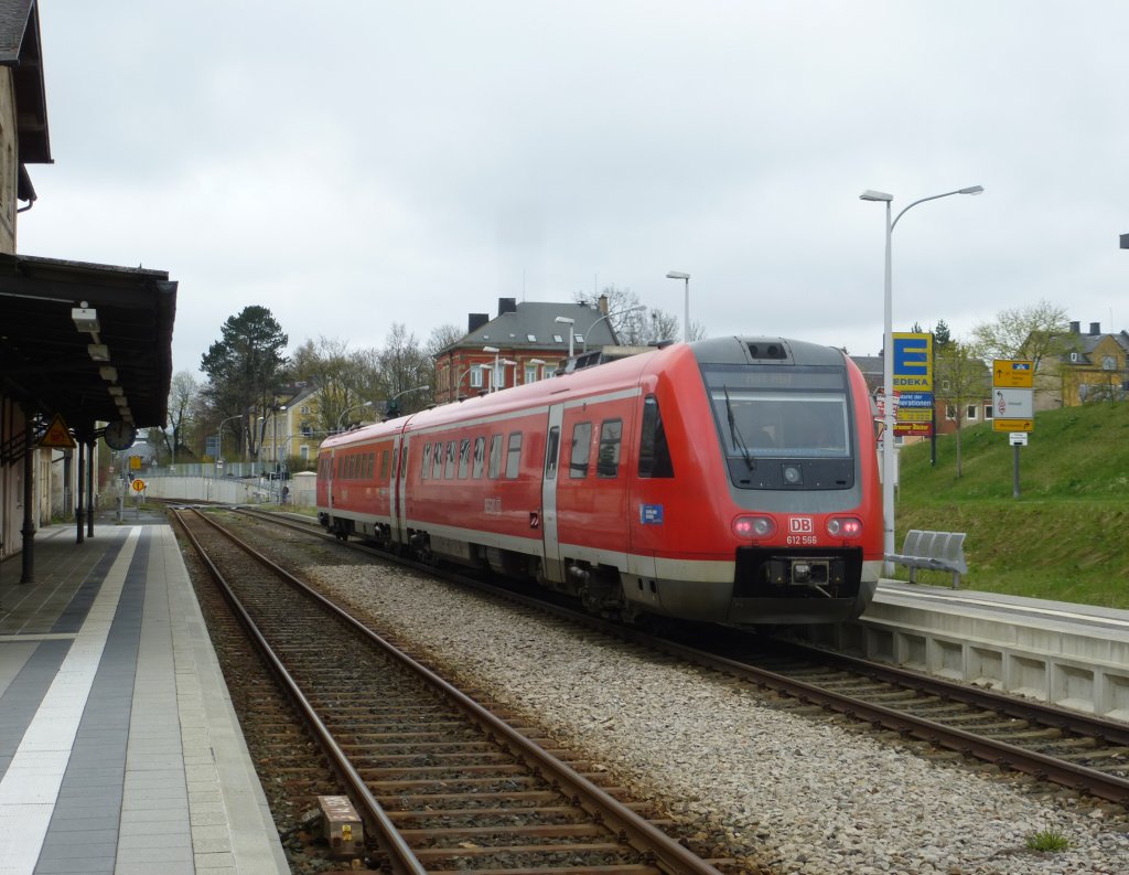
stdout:
<svg viewBox="0 0 1129 875">
<path fill-rule="evenodd" d="M 719 875 L 599 772 L 562 762 L 215 520 L 174 517 L 393 872 Z M 324 788 L 323 772 L 291 780 Z"/>
</svg>

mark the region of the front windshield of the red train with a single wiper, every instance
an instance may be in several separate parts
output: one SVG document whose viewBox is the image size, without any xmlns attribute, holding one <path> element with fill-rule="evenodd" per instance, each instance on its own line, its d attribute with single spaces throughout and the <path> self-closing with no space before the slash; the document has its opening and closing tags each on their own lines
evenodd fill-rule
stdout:
<svg viewBox="0 0 1129 875">
<path fill-rule="evenodd" d="M 707 365 L 702 373 L 735 483 L 776 487 L 780 466 L 771 460 L 802 464 L 808 488 L 854 480 L 842 369 Z"/>
</svg>

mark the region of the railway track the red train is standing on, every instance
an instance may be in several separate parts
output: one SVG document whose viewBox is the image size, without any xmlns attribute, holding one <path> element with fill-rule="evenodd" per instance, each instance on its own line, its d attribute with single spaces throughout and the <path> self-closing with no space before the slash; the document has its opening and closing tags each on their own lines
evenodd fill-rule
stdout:
<svg viewBox="0 0 1129 875">
<path fill-rule="evenodd" d="M 300 523 L 297 528 L 313 530 Z M 481 581 L 460 580 L 609 635 L 741 677 L 802 705 L 819 705 L 901 737 L 917 738 L 1102 799 L 1129 803 L 1127 724 L 802 646 L 773 643 L 771 652 L 765 652 L 750 647 L 745 635 L 718 630 L 704 636 L 681 634 L 680 639 L 651 635 Z"/>
</svg>

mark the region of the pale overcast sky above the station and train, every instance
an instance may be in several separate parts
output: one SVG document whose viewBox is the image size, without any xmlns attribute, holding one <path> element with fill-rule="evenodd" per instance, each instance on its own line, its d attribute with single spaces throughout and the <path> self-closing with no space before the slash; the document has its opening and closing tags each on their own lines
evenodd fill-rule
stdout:
<svg viewBox="0 0 1129 875">
<path fill-rule="evenodd" d="M 421 343 L 607 285 L 710 336 L 1129 328 L 1129 3 L 40 0 L 24 254 L 167 270 L 176 371 L 269 307 Z"/>
</svg>

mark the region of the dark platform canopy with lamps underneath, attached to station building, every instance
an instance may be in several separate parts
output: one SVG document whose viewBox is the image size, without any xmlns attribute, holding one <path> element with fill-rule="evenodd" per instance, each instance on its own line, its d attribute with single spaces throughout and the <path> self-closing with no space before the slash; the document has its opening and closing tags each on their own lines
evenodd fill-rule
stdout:
<svg viewBox="0 0 1129 875">
<path fill-rule="evenodd" d="M 165 426 L 176 286 L 163 270 L 0 254 L 0 391 L 79 434 Z"/>
</svg>

